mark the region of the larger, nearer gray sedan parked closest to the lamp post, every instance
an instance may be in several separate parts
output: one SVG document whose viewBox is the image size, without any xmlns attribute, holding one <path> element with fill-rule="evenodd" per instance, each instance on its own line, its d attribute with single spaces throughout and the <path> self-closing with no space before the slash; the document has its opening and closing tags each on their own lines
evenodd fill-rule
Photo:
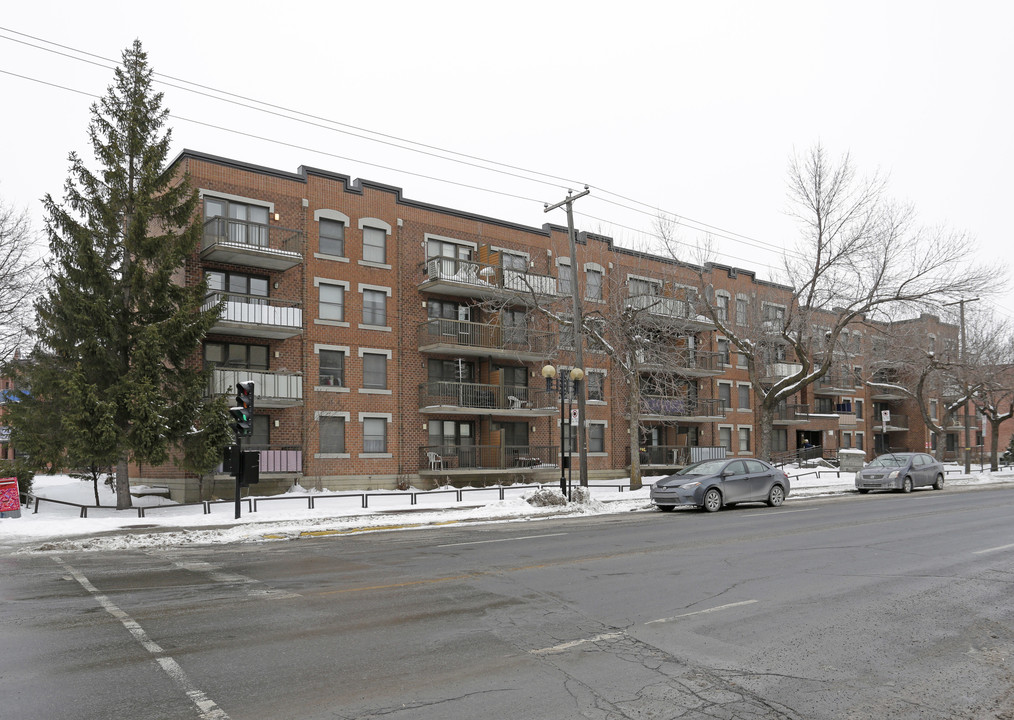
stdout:
<svg viewBox="0 0 1014 720">
<path fill-rule="evenodd" d="M 715 512 L 752 502 L 778 507 L 788 496 L 789 476 L 754 457 L 695 462 L 651 486 L 651 501 L 663 511 L 696 505 Z"/>
</svg>

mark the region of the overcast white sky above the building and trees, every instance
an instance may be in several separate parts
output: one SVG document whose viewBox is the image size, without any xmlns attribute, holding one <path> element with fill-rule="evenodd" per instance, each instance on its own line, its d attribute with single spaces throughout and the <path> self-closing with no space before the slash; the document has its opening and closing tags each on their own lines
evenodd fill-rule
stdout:
<svg viewBox="0 0 1014 720">
<path fill-rule="evenodd" d="M 159 85 L 173 156 L 312 165 L 534 226 L 564 224 L 542 204 L 588 184 L 579 229 L 642 246 L 657 207 L 686 219 L 690 242 L 691 226 L 712 226 L 719 262 L 771 277 L 774 248 L 795 237 L 788 159 L 820 141 L 888 173 L 923 222 L 967 231 L 984 260 L 1014 265 L 1014 4 L 1001 0 L 37 0 L 7 3 L 0 27 L 0 198 L 27 207 L 39 227 L 38 200 L 62 194 L 68 152 L 90 159 L 88 95 L 113 78 L 102 59 L 119 60 L 138 38 L 174 85 Z M 209 96 L 222 92 L 318 120 Z M 507 163 L 539 182 L 350 131 Z M 1005 278 L 989 304 L 1014 317 L 1010 286 Z"/>
</svg>

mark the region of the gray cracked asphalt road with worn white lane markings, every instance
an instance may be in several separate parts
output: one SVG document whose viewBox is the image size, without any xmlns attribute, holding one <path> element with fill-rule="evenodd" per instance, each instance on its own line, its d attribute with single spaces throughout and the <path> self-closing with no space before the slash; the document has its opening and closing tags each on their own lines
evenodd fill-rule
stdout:
<svg viewBox="0 0 1014 720">
<path fill-rule="evenodd" d="M 1012 490 L 8 556 L 0 718 L 1011 720 Z"/>
</svg>

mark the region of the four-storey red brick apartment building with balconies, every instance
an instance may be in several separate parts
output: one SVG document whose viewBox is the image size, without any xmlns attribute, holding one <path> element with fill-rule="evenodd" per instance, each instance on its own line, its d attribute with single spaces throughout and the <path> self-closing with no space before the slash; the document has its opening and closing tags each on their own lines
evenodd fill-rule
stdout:
<svg viewBox="0 0 1014 720">
<path fill-rule="evenodd" d="M 287 172 L 184 151 L 172 169 L 199 189 L 205 215 L 185 281 L 205 276 L 209 302 L 225 298 L 200 351 L 215 366 L 209 391 L 256 383 L 248 445 L 261 451 L 259 492 L 294 481 L 341 490 L 558 478 L 569 415 L 547 391 L 541 368 L 565 373 L 573 343 L 524 296 L 563 297 L 572 282 L 586 309 L 617 294 L 631 303 L 654 298 L 652 316 L 678 323 L 678 342 L 692 351 L 676 373 L 682 402 L 642 390 L 648 474 L 711 448 L 755 451 L 746 368 L 693 309 L 698 278 L 690 266 L 590 233 L 579 234 L 572 259 L 565 227 L 438 207 L 311 167 Z M 750 271 L 711 273 L 732 321 L 777 317 L 792 301 L 789 288 Z M 504 302 L 512 290 L 524 292 Z M 941 344 L 957 337 L 957 328 L 929 315 L 913 322 Z M 932 442 L 907 401 L 871 393 L 873 339 L 866 329 L 850 333 L 841 370 L 780 409 L 774 451 L 808 443 L 872 456 Z M 584 366 L 589 476 L 627 477 L 626 387 L 604 353 L 589 347 Z M 766 366 L 772 378 L 793 371 L 784 357 Z M 881 410 L 891 413 L 886 428 Z M 172 467 L 139 474 L 167 482 L 175 499 L 195 499 L 196 482 Z"/>
</svg>

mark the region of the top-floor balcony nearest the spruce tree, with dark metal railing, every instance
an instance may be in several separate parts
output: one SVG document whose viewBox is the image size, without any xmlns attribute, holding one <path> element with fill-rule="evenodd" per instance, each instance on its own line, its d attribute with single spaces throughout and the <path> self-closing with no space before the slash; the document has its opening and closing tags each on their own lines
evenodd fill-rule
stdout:
<svg viewBox="0 0 1014 720">
<path fill-rule="evenodd" d="M 201 260 L 284 272 L 303 262 L 302 232 L 213 217 L 204 223 Z"/>
</svg>

